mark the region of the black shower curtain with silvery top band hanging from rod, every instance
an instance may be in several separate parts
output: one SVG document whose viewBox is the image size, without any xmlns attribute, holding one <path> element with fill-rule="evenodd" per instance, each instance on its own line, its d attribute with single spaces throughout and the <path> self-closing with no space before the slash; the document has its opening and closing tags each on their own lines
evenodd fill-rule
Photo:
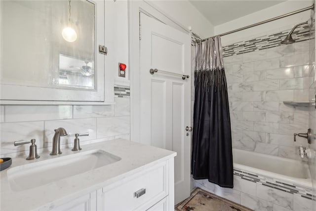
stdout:
<svg viewBox="0 0 316 211">
<path fill-rule="evenodd" d="M 233 188 L 232 135 L 220 37 L 196 44 L 192 174 Z"/>
</svg>

